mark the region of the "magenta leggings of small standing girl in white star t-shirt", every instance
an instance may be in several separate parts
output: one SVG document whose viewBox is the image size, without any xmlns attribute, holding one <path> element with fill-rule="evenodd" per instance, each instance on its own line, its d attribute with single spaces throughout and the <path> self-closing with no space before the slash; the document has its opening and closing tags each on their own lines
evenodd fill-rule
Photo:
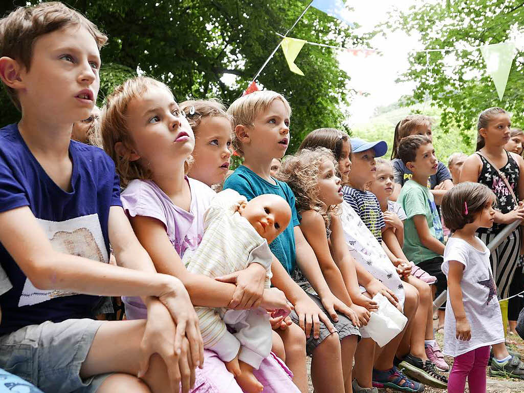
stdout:
<svg viewBox="0 0 524 393">
<path fill-rule="evenodd" d="M 467 384 L 470 393 L 486 393 L 486 366 L 489 359 L 489 345 L 470 350 L 455 357 L 447 381 L 448 393 L 464 393 Z"/>
</svg>

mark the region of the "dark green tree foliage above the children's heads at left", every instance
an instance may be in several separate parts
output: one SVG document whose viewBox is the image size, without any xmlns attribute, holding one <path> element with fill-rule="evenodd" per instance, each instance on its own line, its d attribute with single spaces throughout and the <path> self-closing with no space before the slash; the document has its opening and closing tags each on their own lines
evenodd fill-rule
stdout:
<svg viewBox="0 0 524 393">
<path fill-rule="evenodd" d="M 18 0 L 15 0 L 15 4 Z M 32 0 L 35 3 L 38 0 Z M 162 80 L 177 100 L 219 97 L 231 103 L 247 87 L 285 33 L 308 4 L 302 0 L 65 0 L 85 14 L 109 37 L 101 51 L 101 95 L 139 69 Z M 12 5 L 0 6 L 7 12 Z M 338 46 L 364 44 L 328 15 L 310 8 L 292 30 L 292 37 Z M 320 126 L 339 126 L 352 91 L 348 76 L 330 48 L 305 45 L 298 76 L 279 49 L 257 81 L 285 95 L 293 109 L 291 147 Z M 120 68 L 123 67 L 123 68 Z M 122 71 L 122 72 L 121 72 Z M 226 85 L 221 78 L 232 74 Z M 1 101 L 2 123 L 13 121 L 13 108 Z M 7 108 L 8 107 L 8 108 Z M 8 120 L 8 121 L 7 121 Z"/>
</svg>

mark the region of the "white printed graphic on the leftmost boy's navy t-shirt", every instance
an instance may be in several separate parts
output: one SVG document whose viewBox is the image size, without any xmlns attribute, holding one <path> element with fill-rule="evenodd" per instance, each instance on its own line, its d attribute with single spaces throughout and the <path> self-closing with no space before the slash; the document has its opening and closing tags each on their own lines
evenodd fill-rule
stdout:
<svg viewBox="0 0 524 393">
<path fill-rule="evenodd" d="M 75 217 L 65 221 L 48 221 L 37 218 L 46 232 L 53 249 L 95 261 L 109 262 L 104 236 L 97 214 Z M 75 292 L 40 290 L 26 278 L 18 307 L 33 305 L 59 296 L 76 295 Z"/>
</svg>

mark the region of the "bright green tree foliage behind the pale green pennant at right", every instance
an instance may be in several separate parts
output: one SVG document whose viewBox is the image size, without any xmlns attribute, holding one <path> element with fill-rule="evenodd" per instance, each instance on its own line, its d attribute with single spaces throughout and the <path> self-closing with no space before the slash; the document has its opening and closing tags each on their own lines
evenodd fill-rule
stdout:
<svg viewBox="0 0 524 393">
<path fill-rule="evenodd" d="M 521 0 L 448 0 L 421 3 L 407 13 L 396 13 L 390 28 L 408 33 L 418 31 L 425 49 L 456 48 L 456 51 L 416 53 L 402 80 L 417 83 L 408 103 L 427 101 L 442 109 L 443 130 L 459 128 L 465 139 L 476 129 L 482 110 L 500 106 L 514 113 L 513 122 L 522 125 L 524 57 L 519 50 L 512 64 L 503 101 L 487 75 L 481 51 L 471 50 L 486 44 L 514 39 L 524 24 Z M 522 48 L 520 48 L 522 49 Z"/>
</svg>

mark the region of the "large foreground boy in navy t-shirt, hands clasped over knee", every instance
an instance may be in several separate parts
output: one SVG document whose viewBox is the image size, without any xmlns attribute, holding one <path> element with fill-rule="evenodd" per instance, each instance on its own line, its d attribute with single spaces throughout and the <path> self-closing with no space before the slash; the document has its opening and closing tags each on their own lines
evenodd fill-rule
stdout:
<svg viewBox="0 0 524 393">
<path fill-rule="evenodd" d="M 111 158 L 71 141 L 106 40 L 61 3 L 0 20 L 0 78 L 21 111 L 0 130 L 0 368 L 48 392 L 187 392 L 203 362 L 189 295 L 138 243 Z M 148 320 L 90 318 L 100 296 L 119 295 L 142 296 Z"/>
</svg>

